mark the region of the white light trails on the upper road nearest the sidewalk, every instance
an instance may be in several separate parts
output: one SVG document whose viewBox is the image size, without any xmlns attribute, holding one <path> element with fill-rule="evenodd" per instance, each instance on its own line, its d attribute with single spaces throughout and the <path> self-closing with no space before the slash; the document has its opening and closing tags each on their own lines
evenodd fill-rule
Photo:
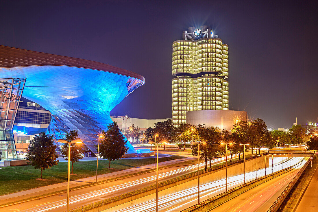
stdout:
<svg viewBox="0 0 318 212">
<path fill-rule="evenodd" d="M 236 158 L 238 157 L 239 154 L 233 154 L 232 158 Z M 228 161 L 230 159 L 228 158 Z M 222 158 L 217 158 L 214 160 L 211 160 L 211 163 L 215 164 L 215 163 L 219 163 L 222 161 Z M 225 162 L 225 158 L 223 158 L 223 162 Z M 205 162 L 200 163 L 200 167 L 204 167 L 205 166 Z M 158 174 L 158 179 L 162 179 L 162 178 L 166 178 L 175 174 L 182 174 L 183 172 L 187 172 L 187 171 L 196 171 L 197 170 L 197 164 L 195 165 L 190 165 L 190 166 L 186 166 L 183 168 L 179 168 L 173 171 L 169 171 L 166 173 L 160 173 Z M 150 176 L 150 177 L 146 177 L 146 178 L 141 178 L 138 180 L 134 180 L 131 182 L 126 182 L 123 183 L 121 185 L 116 185 L 116 186 L 111 186 L 108 188 L 104 188 L 104 189 L 100 189 L 98 191 L 92 191 L 92 192 L 88 192 L 86 194 L 81 194 L 81 195 L 76 195 L 76 196 L 71 196 L 70 197 L 70 205 L 74 204 L 74 203 L 80 203 L 81 201 L 85 201 L 85 200 L 92 200 L 93 198 L 96 199 L 102 195 L 105 194 L 110 194 L 112 192 L 116 192 L 122 189 L 126 189 L 129 187 L 133 187 L 133 186 L 138 186 L 141 185 L 143 183 L 147 183 L 147 182 L 151 182 L 151 181 L 155 181 L 156 180 L 156 175 Z M 53 209 L 57 209 L 60 207 L 66 207 L 66 201 L 65 200 L 59 200 L 59 201 L 54 201 L 51 202 L 49 204 L 49 206 L 43 207 L 45 205 L 42 205 L 42 207 L 34 207 L 34 208 L 28 208 L 26 210 L 22 210 L 25 212 L 45 212 L 45 211 L 49 211 L 49 210 L 53 210 Z M 70 207 L 71 208 L 71 207 Z"/>
</svg>

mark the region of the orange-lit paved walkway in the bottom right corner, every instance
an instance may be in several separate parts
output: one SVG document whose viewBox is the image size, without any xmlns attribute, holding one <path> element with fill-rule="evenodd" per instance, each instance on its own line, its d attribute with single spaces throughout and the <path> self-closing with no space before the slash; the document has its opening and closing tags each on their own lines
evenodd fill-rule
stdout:
<svg viewBox="0 0 318 212">
<path fill-rule="evenodd" d="M 309 166 L 309 165 L 308 165 Z M 295 212 L 318 211 L 318 168 L 311 179 L 305 194 L 301 198 Z"/>
</svg>

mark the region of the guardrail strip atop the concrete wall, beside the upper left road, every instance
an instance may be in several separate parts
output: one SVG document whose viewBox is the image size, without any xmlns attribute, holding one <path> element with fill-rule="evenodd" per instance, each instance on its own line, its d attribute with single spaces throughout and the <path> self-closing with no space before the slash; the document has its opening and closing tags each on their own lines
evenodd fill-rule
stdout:
<svg viewBox="0 0 318 212">
<path fill-rule="evenodd" d="M 263 153 L 263 155 L 266 155 L 266 154 L 268 154 L 268 152 L 267 153 Z M 255 158 L 255 156 L 247 157 L 247 158 L 245 158 L 245 161 L 249 160 L 249 159 L 253 159 L 253 158 Z M 244 159 L 240 159 L 240 160 L 236 160 L 236 161 L 230 162 L 227 165 L 231 166 L 233 164 L 237 164 L 237 163 L 241 163 L 241 162 L 244 162 Z M 204 173 L 208 173 L 208 172 L 212 172 L 212 171 L 215 171 L 215 170 L 218 170 L 218 169 L 222 169 L 225 166 L 226 166 L 226 164 L 218 165 L 218 166 L 212 167 L 211 169 L 210 168 L 209 169 L 204 169 L 204 170 L 200 171 L 200 176 L 202 176 L 202 174 L 204 174 Z M 158 183 L 158 188 L 164 187 L 164 186 L 168 186 L 170 184 L 173 184 L 173 183 L 176 183 L 176 182 L 180 182 L 182 180 L 187 180 L 187 179 L 190 179 L 190 178 L 196 177 L 196 176 L 198 176 L 198 172 L 197 171 L 193 172 L 193 173 L 189 173 L 189 174 L 183 175 L 183 176 L 180 176 L 180 177 L 176 177 L 176 178 L 173 178 L 173 179 L 170 179 L 170 180 L 166 180 L 164 182 Z M 113 202 L 116 202 L 116 201 L 120 201 L 120 200 L 129 198 L 129 197 L 138 195 L 138 194 L 142 194 L 142 193 L 145 193 L 145 192 L 148 192 L 148 191 L 151 191 L 151 190 L 155 190 L 155 189 L 156 189 L 156 185 L 151 185 L 151 186 L 144 187 L 144 188 L 141 188 L 141 189 L 138 189 L 138 190 L 135 190 L 135 191 L 128 192 L 126 194 L 121 194 L 121 195 L 118 195 L 118 196 L 114 196 L 114 197 L 108 198 L 106 200 L 101 200 L 101 201 L 94 202 L 94 203 L 91 203 L 91 204 L 88 204 L 88 205 L 85 205 L 85 206 L 74 208 L 74 209 L 69 210 L 69 212 L 83 212 L 83 211 L 86 211 L 86 210 L 90 210 L 90 209 L 97 208 L 97 207 L 100 207 L 100 206 L 103 206 L 103 205 L 107 205 L 107 204 L 110 204 L 110 203 L 113 203 Z"/>
</svg>

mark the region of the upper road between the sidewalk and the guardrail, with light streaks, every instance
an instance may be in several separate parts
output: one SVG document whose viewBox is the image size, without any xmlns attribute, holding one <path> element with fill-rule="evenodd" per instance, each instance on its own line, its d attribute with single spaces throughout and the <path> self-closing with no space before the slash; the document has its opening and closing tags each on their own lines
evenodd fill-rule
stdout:
<svg viewBox="0 0 318 212">
<path fill-rule="evenodd" d="M 235 155 L 234 157 L 237 157 Z M 225 158 L 223 157 L 223 161 Z M 211 161 L 212 164 L 221 162 L 221 158 Z M 205 163 L 200 163 L 200 167 L 204 167 Z M 197 170 L 197 165 L 170 167 L 159 170 L 159 182 L 175 178 L 177 176 L 191 173 Z M 93 187 L 86 187 L 70 192 L 70 209 L 81 207 L 89 203 L 108 199 L 113 196 L 125 194 L 143 187 L 147 187 L 156 183 L 155 172 L 145 173 L 142 175 L 132 176 L 122 180 L 110 181 Z M 45 197 L 37 200 L 27 201 L 16 205 L 0 208 L 1 212 L 53 212 L 66 211 L 67 193 Z"/>
</svg>

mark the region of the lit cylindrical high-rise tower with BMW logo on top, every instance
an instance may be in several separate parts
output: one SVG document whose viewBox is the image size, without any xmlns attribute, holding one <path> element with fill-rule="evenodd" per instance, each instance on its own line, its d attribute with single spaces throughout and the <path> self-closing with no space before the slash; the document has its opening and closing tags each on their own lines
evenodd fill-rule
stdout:
<svg viewBox="0 0 318 212">
<path fill-rule="evenodd" d="M 229 110 L 229 47 L 209 26 L 189 27 L 172 44 L 172 121 L 193 110 Z"/>
</svg>

